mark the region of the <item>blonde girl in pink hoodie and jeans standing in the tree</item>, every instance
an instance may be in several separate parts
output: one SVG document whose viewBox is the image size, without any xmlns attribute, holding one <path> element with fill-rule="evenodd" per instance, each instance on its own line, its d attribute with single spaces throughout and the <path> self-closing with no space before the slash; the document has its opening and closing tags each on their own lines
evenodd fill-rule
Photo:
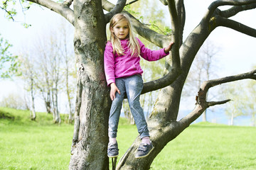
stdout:
<svg viewBox="0 0 256 170">
<path fill-rule="evenodd" d="M 124 95 L 127 94 L 129 107 L 137 125 L 142 143 L 137 150 L 136 158 L 146 157 L 154 149 L 149 130 L 144 118 L 144 112 L 139 103 L 139 96 L 143 88 L 142 68 L 139 65 L 141 56 L 148 61 L 156 61 L 169 55 L 170 45 L 164 49 L 152 51 L 134 38 L 129 16 L 118 13 L 110 21 L 110 41 L 107 42 L 104 53 L 104 66 L 107 85 L 111 87 L 110 98 L 112 106 L 109 118 L 110 142 L 107 147 L 108 157 L 118 156 L 117 125 L 122 108 Z"/>
</svg>

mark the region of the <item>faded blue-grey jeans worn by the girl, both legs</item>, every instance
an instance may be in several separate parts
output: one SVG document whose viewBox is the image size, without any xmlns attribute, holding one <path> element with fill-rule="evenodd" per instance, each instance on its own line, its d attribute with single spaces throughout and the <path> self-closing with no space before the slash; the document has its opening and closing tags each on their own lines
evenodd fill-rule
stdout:
<svg viewBox="0 0 256 170">
<path fill-rule="evenodd" d="M 149 137 L 149 130 L 147 128 L 144 112 L 139 103 L 139 96 L 143 89 L 142 76 L 136 74 L 131 77 L 118 78 L 115 79 L 115 83 L 121 94 L 116 93 L 116 98 L 112 101 L 109 118 L 109 137 L 117 137 L 117 126 L 125 93 L 127 94 L 129 108 L 137 125 L 140 138 Z"/>
</svg>

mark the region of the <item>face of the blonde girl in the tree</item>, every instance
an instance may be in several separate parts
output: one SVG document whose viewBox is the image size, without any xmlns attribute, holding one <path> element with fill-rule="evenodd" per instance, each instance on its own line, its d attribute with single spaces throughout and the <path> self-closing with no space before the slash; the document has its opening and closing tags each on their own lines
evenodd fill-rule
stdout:
<svg viewBox="0 0 256 170">
<path fill-rule="evenodd" d="M 127 21 L 119 21 L 114 27 L 110 28 L 111 32 L 117 36 L 117 38 L 124 40 L 129 34 L 129 26 Z"/>
</svg>

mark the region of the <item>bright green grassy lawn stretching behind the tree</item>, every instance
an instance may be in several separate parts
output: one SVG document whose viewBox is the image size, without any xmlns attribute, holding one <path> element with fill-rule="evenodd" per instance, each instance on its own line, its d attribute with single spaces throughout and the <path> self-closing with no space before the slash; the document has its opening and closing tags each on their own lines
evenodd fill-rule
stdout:
<svg viewBox="0 0 256 170">
<path fill-rule="evenodd" d="M 46 113 L 36 119 L 29 120 L 28 111 L 0 108 L 0 169 L 68 169 L 73 125 L 53 125 Z M 122 119 L 118 130 L 120 159 L 137 128 Z M 255 151 L 256 128 L 198 123 L 169 142 L 151 169 L 255 170 Z"/>
</svg>

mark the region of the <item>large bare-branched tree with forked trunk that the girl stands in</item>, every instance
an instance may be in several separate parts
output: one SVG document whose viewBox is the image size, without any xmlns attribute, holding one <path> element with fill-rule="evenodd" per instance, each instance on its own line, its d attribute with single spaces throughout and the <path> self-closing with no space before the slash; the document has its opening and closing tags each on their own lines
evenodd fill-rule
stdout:
<svg viewBox="0 0 256 170">
<path fill-rule="evenodd" d="M 115 13 L 123 10 L 126 1 L 119 0 L 116 5 L 107 0 L 68 0 L 56 3 L 50 0 L 31 0 L 60 13 L 75 27 L 74 48 L 78 62 L 78 93 L 75 108 L 74 136 L 70 158 L 70 169 L 109 169 L 107 158 L 107 120 L 110 111 L 109 89 L 103 70 L 103 52 L 105 50 L 106 24 Z M 133 1 L 136 2 L 136 1 Z M 219 84 L 240 79 L 256 79 L 256 70 L 233 77 L 223 77 L 205 81 L 198 91 L 196 107 L 179 121 L 178 106 L 181 91 L 191 64 L 208 35 L 219 26 L 237 30 L 245 35 L 256 37 L 256 30 L 233 21 L 230 17 L 245 10 L 256 8 L 256 0 L 220 0 L 213 1 L 205 16 L 191 34 L 183 41 L 185 7 L 181 0 L 161 0 L 168 6 L 171 17 L 171 35 L 161 35 L 149 29 L 131 14 L 135 31 L 159 47 L 172 40 L 175 45 L 171 55 L 166 57 L 164 77 L 144 84 L 143 94 L 161 89 L 149 120 L 151 140 L 155 149 L 149 157 L 135 159 L 139 137 L 127 150 L 117 164 L 117 169 L 149 169 L 151 163 L 164 146 L 185 130 L 206 108 L 224 101 L 206 101 L 207 91 Z M 73 4 L 73 8 L 70 5 Z M 220 10 L 221 6 L 230 8 Z M 102 8 L 108 13 L 103 13 Z M 125 12 L 125 11 L 123 11 Z"/>
</svg>

